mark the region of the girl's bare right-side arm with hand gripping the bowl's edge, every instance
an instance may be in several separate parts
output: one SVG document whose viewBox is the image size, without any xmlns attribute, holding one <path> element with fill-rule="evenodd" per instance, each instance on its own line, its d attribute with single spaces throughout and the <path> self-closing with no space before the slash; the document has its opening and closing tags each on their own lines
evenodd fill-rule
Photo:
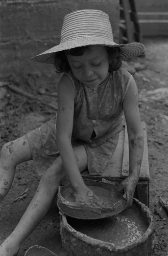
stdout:
<svg viewBox="0 0 168 256">
<path fill-rule="evenodd" d="M 134 79 L 131 80 L 123 101 L 123 109 L 129 139 L 129 176 L 121 183 L 121 188 L 125 189 L 127 206 L 130 206 L 139 179 L 143 156 L 143 130 L 138 108 L 138 91 Z"/>
</svg>

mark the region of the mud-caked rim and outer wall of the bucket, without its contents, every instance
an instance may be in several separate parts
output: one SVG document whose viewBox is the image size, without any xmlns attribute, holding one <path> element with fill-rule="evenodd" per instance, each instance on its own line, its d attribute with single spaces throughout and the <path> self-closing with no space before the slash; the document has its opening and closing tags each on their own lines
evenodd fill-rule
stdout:
<svg viewBox="0 0 168 256">
<path fill-rule="evenodd" d="M 134 242 L 116 247 L 113 243 L 104 242 L 81 233 L 68 223 L 68 218 L 60 212 L 60 233 L 62 244 L 68 256 L 147 256 L 152 245 L 154 219 L 150 209 L 137 199 L 133 200 L 143 219 L 147 223 L 147 229 L 143 235 Z"/>
</svg>

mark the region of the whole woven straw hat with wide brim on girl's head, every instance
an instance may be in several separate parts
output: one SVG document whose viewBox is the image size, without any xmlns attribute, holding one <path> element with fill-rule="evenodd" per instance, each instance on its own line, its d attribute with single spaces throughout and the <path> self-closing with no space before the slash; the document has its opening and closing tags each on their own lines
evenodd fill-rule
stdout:
<svg viewBox="0 0 168 256">
<path fill-rule="evenodd" d="M 141 55 L 145 49 L 139 42 L 116 44 L 109 16 L 100 10 L 84 9 L 65 15 L 60 44 L 32 57 L 32 60 L 54 64 L 57 52 L 88 45 L 117 46 L 121 49 L 121 60 Z"/>
</svg>

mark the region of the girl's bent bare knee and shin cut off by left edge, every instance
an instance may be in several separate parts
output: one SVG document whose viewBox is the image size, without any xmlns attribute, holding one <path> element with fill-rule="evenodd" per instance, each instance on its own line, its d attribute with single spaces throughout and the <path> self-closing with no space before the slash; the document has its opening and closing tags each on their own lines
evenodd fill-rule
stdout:
<svg viewBox="0 0 168 256">
<path fill-rule="evenodd" d="M 26 136 L 3 146 L 0 159 L 0 204 L 12 185 L 16 165 L 28 160 L 31 160 L 31 153 Z"/>
</svg>

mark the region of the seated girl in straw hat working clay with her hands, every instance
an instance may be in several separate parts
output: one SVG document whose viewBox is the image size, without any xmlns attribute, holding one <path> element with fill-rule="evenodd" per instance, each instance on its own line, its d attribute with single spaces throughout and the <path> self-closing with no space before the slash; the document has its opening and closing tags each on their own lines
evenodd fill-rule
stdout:
<svg viewBox="0 0 168 256">
<path fill-rule="evenodd" d="M 143 132 L 138 92 L 121 60 L 144 51 L 139 43 L 117 45 L 109 17 L 99 10 L 79 10 L 63 21 L 59 45 L 33 57 L 53 63 L 63 73 L 58 84 L 58 113 L 26 136 L 4 145 L 1 153 L 1 201 L 9 190 L 18 163 L 33 159 L 43 172 L 36 194 L 11 235 L 0 246 L 1 256 L 12 256 L 49 210 L 67 174 L 78 202 L 97 203 L 81 173 L 88 168 L 101 175 L 111 160 L 124 115 L 129 136 L 129 176 L 120 186 L 127 206 L 139 179 Z"/>
</svg>

